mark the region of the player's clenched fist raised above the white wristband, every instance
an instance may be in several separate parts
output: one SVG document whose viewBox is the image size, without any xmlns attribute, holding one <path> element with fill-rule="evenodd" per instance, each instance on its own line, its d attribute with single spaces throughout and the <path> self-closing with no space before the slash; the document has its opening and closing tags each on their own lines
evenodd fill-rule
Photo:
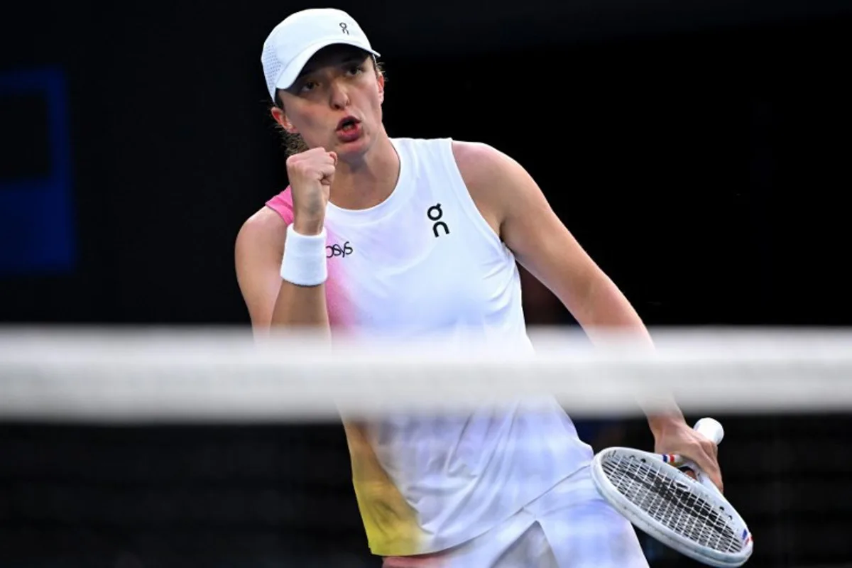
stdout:
<svg viewBox="0 0 852 568">
<path fill-rule="evenodd" d="M 312 148 L 287 158 L 287 177 L 293 193 L 293 229 L 302 235 L 317 235 L 325 222 L 337 154 Z"/>
</svg>

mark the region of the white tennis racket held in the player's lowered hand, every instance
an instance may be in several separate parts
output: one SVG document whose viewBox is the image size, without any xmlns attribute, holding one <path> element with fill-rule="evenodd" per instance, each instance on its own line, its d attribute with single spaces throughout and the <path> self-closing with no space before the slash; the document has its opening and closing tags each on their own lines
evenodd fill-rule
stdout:
<svg viewBox="0 0 852 568">
<path fill-rule="evenodd" d="M 712 418 L 696 422 L 695 430 L 717 444 L 724 435 Z M 740 566 L 751 556 L 746 522 L 716 485 L 681 456 L 607 448 L 592 460 L 591 475 L 619 513 L 677 552 L 711 566 Z"/>
</svg>

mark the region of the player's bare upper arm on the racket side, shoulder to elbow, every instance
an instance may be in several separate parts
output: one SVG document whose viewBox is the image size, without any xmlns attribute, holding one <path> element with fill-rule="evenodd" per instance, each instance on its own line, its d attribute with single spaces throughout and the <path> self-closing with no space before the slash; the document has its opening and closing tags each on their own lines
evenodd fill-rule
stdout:
<svg viewBox="0 0 852 568">
<path fill-rule="evenodd" d="M 517 261 L 578 316 L 596 281 L 607 277 L 551 209 L 533 177 L 491 146 L 457 142 L 453 151 L 471 197 L 492 218 Z"/>
</svg>

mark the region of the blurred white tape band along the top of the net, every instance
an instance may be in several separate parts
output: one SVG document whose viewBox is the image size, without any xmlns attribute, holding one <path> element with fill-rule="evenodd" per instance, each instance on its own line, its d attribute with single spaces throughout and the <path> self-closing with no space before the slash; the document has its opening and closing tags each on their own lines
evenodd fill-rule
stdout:
<svg viewBox="0 0 852 568">
<path fill-rule="evenodd" d="M 550 393 L 575 416 L 852 407 L 852 333 L 653 330 L 656 348 L 533 330 L 534 356 L 429 341 L 256 341 L 245 330 L 0 330 L 0 419 L 302 421 Z"/>
</svg>

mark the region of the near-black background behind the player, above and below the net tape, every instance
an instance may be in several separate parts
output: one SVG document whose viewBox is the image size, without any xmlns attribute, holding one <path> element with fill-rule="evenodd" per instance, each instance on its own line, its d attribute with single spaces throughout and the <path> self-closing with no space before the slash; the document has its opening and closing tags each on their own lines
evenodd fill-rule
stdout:
<svg viewBox="0 0 852 568">
<path fill-rule="evenodd" d="M 261 45 L 307 7 L 4 7 L 0 322 L 247 323 L 233 240 L 286 186 Z M 516 158 L 649 325 L 852 323 L 849 3 L 337 7 L 383 54 L 389 134 Z M 531 323 L 572 324 L 535 293 Z M 726 421 L 751 565 L 852 560 L 852 495 L 815 496 L 852 474 L 849 416 Z M 335 424 L 7 422 L 0 566 L 375 565 L 348 473 Z"/>
</svg>

